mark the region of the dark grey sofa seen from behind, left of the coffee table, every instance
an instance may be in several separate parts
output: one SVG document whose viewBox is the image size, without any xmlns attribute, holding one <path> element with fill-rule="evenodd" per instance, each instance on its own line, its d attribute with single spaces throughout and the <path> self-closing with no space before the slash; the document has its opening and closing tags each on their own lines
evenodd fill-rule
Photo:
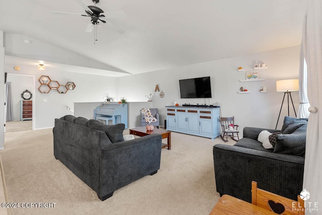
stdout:
<svg viewBox="0 0 322 215">
<path fill-rule="evenodd" d="M 55 119 L 54 157 L 97 192 L 103 201 L 113 192 L 160 168 L 162 136 L 124 141 L 124 124 L 67 115 Z"/>
</svg>

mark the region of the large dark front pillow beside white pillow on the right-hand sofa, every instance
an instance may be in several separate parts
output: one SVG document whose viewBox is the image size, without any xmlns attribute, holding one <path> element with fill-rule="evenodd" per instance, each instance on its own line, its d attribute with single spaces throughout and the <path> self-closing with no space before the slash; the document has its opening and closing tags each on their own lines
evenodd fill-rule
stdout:
<svg viewBox="0 0 322 215">
<path fill-rule="evenodd" d="M 273 153 L 304 156 L 306 144 L 306 124 L 291 134 L 278 134 Z"/>
</svg>

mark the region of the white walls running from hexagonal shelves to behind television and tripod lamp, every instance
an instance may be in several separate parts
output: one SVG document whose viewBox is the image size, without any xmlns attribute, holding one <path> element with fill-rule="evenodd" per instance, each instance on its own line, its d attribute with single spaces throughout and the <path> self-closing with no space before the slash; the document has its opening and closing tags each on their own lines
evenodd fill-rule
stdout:
<svg viewBox="0 0 322 215">
<path fill-rule="evenodd" d="M 275 128 L 278 113 L 281 107 L 283 93 L 276 92 L 276 81 L 283 79 L 297 79 L 299 68 L 300 47 L 290 47 L 252 55 L 237 56 L 227 59 L 197 63 L 176 68 L 170 68 L 151 73 L 132 75 L 121 78 L 93 76 L 66 71 L 36 69 L 36 66 L 21 66 L 21 70 L 15 71 L 15 65 L 6 64 L 8 73 L 34 75 L 36 77 L 36 126 L 35 128 L 52 127 L 54 118 L 66 114 L 72 114 L 66 106 L 73 107 L 73 102 L 100 102 L 102 94 L 109 93 L 119 100 L 127 98 L 128 102 L 147 101 L 145 95 L 152 93 L 152 106 L 158 108 L 160 124 L 164 125 L 167 105 L 173 105 L 174 101 L 184 103 L 205 103 L 204 99 L 180 99 L 179 80 L 210 76 L 212 98 L 207 104 L 218 102 L 221 106 L 222 116 L 235 116 L 235 123 L 240 130 L 245 126 Z M 246 77 L 246 71 L 237 71 L 239 66 L 246 70 L 253 70 L 255 63 L 265 62 L 267 69 L 259 71 L 260 78 L 266 78 L 262 82 L 239 82 Z M 38 78 L 47 75 L 51 80 L 60 84 L 72 81 L 76 87 L 66 94 L 58 94 L 52 90 L 48 94 L 41 94 L 37 89 L 40 85 Z M 164 98 L 154 93 L 155 85 L 165 93 Z M 250 94 L 237 94 L 243 86 L 251 91 Z M 259 92 L 262 86 L 268 88 L 268 93 Z M 297 111 L 299 106 L 298 92 L 292 92 L 292 98 Z M 44 102 L 43 99 L 47 99 Z M 283 118 L 287 115 L 287 105 L 284 101 L 278 128 L 281 128 Z M 290 115 L 295 116 L 290 109 Z M 135 120 L 135 119 L 133 119 Z"/>
</svg>

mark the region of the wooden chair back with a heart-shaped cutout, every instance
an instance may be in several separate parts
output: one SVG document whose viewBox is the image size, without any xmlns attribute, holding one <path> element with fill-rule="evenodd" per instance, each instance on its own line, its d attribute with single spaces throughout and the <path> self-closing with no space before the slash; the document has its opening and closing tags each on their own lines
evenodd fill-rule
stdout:
<svg viewBox="0 0 322 215">
<path fill-rule="evenodd" d="M 297 201 L 289 199 L 275 193 L 257 188 L 257 182 L 252 181 L 252 204 L 277 214 L 304 215 L 304 200 L 297 196 Z"/>
</svg>

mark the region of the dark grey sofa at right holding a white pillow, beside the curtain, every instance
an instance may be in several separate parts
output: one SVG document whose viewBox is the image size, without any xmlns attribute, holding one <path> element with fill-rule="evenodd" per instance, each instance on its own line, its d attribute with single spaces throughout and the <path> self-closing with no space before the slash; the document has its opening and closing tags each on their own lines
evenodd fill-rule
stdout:
<svg viewBox="0 0 322 215">
<path fill-rule="evenodd" d="M 297 200 L 302 190 L 307 119 L 285 117 L 281 130 L 245 127 L 234 146 L 213 147 L 216 190 L 251 202 L 251 184 Z M 278 132 L 275 149 L 257 140 L 261 131 Z"/>
</svg>

